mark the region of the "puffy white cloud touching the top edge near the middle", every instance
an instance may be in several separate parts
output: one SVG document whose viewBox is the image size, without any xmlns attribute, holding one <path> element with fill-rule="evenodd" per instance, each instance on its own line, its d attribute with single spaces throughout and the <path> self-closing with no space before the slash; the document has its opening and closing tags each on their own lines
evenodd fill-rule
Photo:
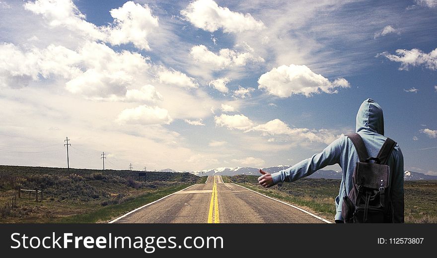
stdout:
<svg viewBox="0 0 437 258">
<path fill-rule="evenodd" d="M 181 14 L 197 28 L 214 32 L 223 29 L 223 32 L 238 33 L 248 30 L 261 30 L 264 23 L 256 20 L 250 13 L 240 13 L 218 6 L 213 0 L 197 0 L 181 10 Z"/>
</svg>

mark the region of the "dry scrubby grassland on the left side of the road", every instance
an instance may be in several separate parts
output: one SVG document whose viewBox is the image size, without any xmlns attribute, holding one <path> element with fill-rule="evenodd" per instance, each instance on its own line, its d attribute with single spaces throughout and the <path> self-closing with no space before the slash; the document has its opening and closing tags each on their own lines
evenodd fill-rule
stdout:
<svg viewBox="0 0 437 258">
<path fill-rule="evenodd" d="M 85 214 L 95 214 L 86 217 L 95 222 L 96 216 L 105 216 L 106 211 L 122 212 L 138 201 L 187 187 L 200 178 L 188 173 L 150 172 L 146 182 L 137 180 L 136 171 L 0 166 L 0 223 L 80 222 L 68 218 Z M 39 189 L 44 198 L 35 202 L 31 194 L 29 201 L 27 193 L 18 198 L 17 189 Z"/>
</svg>

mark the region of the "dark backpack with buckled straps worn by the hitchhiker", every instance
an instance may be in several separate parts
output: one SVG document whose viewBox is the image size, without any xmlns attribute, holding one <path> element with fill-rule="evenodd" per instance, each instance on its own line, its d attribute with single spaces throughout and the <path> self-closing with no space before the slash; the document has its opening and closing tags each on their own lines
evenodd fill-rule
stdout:
<svg viewBox="0 0 437 258">
<path fill-rule="evenodd" d="M 387 138 L 374 158 L 369 157 L 360 134 L 351 133 L 346 136 L 354 143 L 359 162 L 352 176 L 352 190 L 349 195 L 343 196 L 343 221 L 345 223 L 392 222 L 390 167 L 386 164 L 396 142 Z M 346 176 L 343 180 L 346 181 Z M 346 189 L 346 184 L 344 186 Z"/>
</svg>

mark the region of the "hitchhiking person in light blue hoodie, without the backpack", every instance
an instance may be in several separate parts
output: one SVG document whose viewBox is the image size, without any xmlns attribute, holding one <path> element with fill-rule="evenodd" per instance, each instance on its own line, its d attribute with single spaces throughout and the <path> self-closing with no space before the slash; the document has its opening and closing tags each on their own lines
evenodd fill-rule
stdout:
<svg viewBox="0 0 437 258">
<path fill-rule="evenodd" d="M 358 110 L 356 132 L 363 138 L 367 152 L 371 157 L 376 157 L 386 137 L 384 137 L 384 117 L 381 107 L 372 99 L 366 99 Z M 314 154 L 311 158 L 302 160 L 291 168 L 277 173 L 263 174 L 258 178 L 261 186 L 268 188 L 280 182 L 293 182 L 306 177 L 328 165 L 338 164 L 344 176 L 340 184 L 340 191 L 335 198 L 335 222 L 343 223 L 341 213 L 343 196 L 352 190 L 352 175 L 355 164 L 359 161 L 358 154 L 351 139 L 341 136 L 329 144 L 322 152 Z M 387 165 L 390 166 L 392 222 L 404 222 L 404 158 L 398 144 L 394 147 Z M 344 182 L 345 181 L 345 182 Z M 346 185 L 346 189 L 344 186 Z"/>
</svg>

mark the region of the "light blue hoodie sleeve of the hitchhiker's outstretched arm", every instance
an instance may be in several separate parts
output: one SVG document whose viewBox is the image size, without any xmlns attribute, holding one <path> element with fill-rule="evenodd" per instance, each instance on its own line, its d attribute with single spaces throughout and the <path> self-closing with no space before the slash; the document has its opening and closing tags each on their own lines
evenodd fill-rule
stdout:
<svg viewBox="0 0 437 258">
<path fill-rule="evenodd" d="M 331 144 L 329 144 L 322 152 L 314 154 L 311 158 L 302 160 L 291 168 L 273 173 L 273 183 L 276 185 L 280 182 L 293 182 L 300 178 L 311 175 L 317 170 L 328 165 L 338 164 L 342 153 L 342 144 L 344 138 L 342 136 Z"/>
</svg>

